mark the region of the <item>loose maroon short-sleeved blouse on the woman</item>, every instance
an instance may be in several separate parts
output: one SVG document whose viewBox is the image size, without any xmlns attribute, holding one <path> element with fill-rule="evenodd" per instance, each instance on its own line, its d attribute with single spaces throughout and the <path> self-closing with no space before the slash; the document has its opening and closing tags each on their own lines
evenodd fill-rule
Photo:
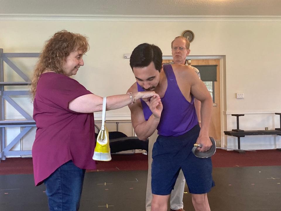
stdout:
<svg viewBox="0 0 281 211">
<path fill-rule="evenodd" d="M 68 76 L 54 72 L 40 76 L 33 103 L 37 126 L 32 146 L 36 186 L 69 160 L 81 169 L 95 169 L 94 114 L 68 109 L 70 101 L 86 94 L 91 92 Z"/>
</svg>

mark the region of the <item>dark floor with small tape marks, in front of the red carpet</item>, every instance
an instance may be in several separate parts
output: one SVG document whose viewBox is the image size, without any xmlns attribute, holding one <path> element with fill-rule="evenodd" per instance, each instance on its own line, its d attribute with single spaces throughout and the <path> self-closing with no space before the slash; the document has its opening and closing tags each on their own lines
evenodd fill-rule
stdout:
<svg viewBox="0 0 281 211">
<path fill-rule="evenodd" d="M 212 211 L 281 210 L 281 166 L 214 168 L 213 178 Z M 145 211 L 146 180 L 147 171 L 86 173 L 80 210 Z M 194 210 L 189 193 L 184 208 Z M 0 210 L 47 211 L 44 185 L 34 187 L 31 174 L 0 176 Z"/>
</svg>

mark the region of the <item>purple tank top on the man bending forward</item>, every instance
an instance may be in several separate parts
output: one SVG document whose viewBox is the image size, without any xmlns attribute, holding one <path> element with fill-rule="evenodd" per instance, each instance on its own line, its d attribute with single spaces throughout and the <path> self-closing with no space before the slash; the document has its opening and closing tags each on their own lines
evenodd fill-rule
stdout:
<svg viewBox="0 0 281 211">
<path fill-rule="evenodd" d="M 164 65 L 168 85 L 164 97 L 161 98 L 163 110 L 157 130 L 159 135 L 180 136 L 198 124 L 194 107 L 194 97 L 189 103 L 181 93 L 171 65 Z M 138 91 L 144 91 L 137 83 Z M 147 121 L 152 115 L 148 105 L 141 99 L 143 114 Z"/>
</svg>

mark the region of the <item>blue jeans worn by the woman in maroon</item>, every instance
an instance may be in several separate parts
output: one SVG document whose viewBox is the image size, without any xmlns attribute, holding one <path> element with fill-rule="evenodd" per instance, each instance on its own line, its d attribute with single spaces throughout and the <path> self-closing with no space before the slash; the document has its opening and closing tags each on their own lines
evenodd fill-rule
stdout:
<svg viewBox="0 0 281 211">
<path fill-rule="evenodd" d="M 85 169 L 68 161 L 44 180 L 50 211 L 77 211 L 83 188 Z"/>
</svg>

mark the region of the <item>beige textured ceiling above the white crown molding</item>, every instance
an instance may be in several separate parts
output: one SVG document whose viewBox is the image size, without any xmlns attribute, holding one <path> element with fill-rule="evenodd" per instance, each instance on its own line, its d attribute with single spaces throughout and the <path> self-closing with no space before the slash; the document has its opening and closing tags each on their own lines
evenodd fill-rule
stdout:
<svg viewBox="0 0 281 211">
<path fill-rule="evenodd" d="M 281 16 L 280 0 L 0 0 L 0 14 Z"/>
</svg>

